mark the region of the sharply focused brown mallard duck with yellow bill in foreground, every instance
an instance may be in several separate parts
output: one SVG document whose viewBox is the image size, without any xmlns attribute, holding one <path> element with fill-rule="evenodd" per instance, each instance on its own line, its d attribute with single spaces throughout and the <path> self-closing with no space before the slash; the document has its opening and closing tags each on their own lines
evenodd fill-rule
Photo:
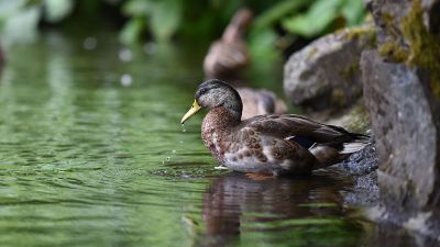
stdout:
<svg viewBox="0 0 440 247">
<path fill-rule="evenodd" d="M 331 166 L 367 144 L 367 136 L 294 114 L 242 121 L 242 101 L 227 82 L 202 82 L 182 123 L 200 109 L 205 146 L 229 169 L 274 176 L 304 175 Z"/>
</svg>

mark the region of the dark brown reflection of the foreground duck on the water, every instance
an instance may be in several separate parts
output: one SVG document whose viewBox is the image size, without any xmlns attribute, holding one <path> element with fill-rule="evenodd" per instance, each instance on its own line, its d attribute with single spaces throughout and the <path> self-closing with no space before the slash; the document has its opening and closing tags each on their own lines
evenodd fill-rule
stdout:
<svg viewBox="0 0 440 247">
<path fill-rule="evenodd" d="M 344 210 L 340 206 L 340 191 L 346 189 L 349 183 L 329 175 L 255 180 L 231 172 L 217 178 L 204 194 L 206 234 L 199 244 L 224 246 L 233 244 L 242 232 L 283 232 L 295 227 L 271 227 L 274 222 L 341 216 Z M 327 206 L 317 206 L 319 204 Z M 267 224 L 267 227 L 243 227 L 243 223 Z"/>
</svg>

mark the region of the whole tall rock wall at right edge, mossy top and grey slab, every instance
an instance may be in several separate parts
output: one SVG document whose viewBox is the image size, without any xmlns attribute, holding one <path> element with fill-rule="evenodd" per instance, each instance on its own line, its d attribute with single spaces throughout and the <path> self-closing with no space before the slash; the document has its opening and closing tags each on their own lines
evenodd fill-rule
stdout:
<svg viewBox="0 0 440 247">
<path fill-rule="evenodd" d="M 377 52 L 362 55 L 364 98 L 387 221 L 440 234 L 440 0 L 371 0 Z M 413 227 L 415 222 L 424 227 Z M 420 224 L 419 224 L 420 225 Z"/>
</svg>

